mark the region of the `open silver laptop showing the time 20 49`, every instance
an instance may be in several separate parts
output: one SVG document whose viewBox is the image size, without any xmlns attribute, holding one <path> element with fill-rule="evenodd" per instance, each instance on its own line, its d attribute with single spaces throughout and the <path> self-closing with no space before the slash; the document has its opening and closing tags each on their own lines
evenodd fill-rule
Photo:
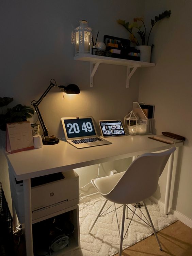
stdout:
<svg viewBox="0 0 192 256">
<path fill-rule="evenodd" d="M 66 141 L 76 148 L 112 144 L 98 137 L 92 116 L 62 117 L 61 122 Z"/>
</svg>

